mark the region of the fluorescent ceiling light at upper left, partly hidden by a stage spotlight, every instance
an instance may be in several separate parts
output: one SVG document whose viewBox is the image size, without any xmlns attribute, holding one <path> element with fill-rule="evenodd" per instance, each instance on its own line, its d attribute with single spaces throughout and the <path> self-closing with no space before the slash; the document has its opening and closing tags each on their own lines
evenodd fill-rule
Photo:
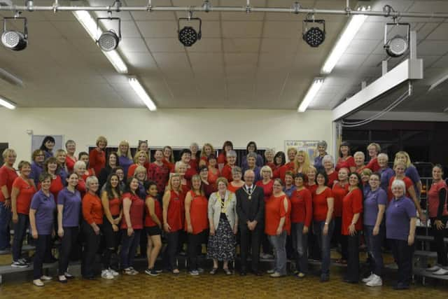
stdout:
<svg viewBox="0 0 448 299">
<path fill-rule="evenodd" d="M 97 23 L 95 22 L 94 18 L 92 18 L 92 15 L 88 13 L 87 11 L 73 11 L 73 15 L 75 15 L 76 19 L 83 25 L 85 31 L 90 35 L 90 37 L 97 42 L 97 39 L 99 36 L 101 36 L 102 29 L 99 29 L 97 27 Z M 118 54 L 117 50 L 113 50 L 110 52 L 104 52 L 104 55 L 106 55 L 107 59 L 111 62 L 113 67 L 118 71 L 120 74 L 127 74 L 127 66 L 123 59 Z"/>
</svg>

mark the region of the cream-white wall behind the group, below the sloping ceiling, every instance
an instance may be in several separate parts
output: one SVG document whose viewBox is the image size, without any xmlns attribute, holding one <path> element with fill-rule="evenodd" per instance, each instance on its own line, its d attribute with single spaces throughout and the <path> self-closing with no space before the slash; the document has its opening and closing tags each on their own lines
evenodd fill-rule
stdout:
<svg viewBox="0 0 448 299">
<path fill-rule="evenodd" d="M 283 151 L 285 140 L 325 140 L 331 151 L 331 111 L 230 110 L 230 109 L 0 109 L 0 142 L 8 142 L 18 153 L 18 160 L 29 160 L 31 136 L 63 134 L 73 139 L 77 152 L 92 146 L 99 135 L 109 145 L 127 139 L 137 145 L 148 139 L 150 146 L 200 146 L 209 142 L 221 148 L 231 140 L 245 148 L 250 140 L 258 147 Z"/>
</svg>

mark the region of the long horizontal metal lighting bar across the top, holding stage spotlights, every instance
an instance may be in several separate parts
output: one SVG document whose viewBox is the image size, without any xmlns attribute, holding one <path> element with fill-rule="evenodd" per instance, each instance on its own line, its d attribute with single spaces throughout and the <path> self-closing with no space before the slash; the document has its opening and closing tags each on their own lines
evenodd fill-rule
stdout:
<svg viewBox="0 0 448 299">
<path fill-rule="evenodd" d="M 344 9 L 315 9 L 315 8 L 293 8 L 293 7 L 255 7 L 255 6 L 0 6 L 0 11 L 203 11 L 203 12 L 239 12 L 239 13 L 304 13 L 304 14 L 327 14 L 327 15 L 372 15 L 390 18 L 448 18 L 448 13 L 410 13 L 402 11 L 351 11 Z"/>
</svg>

